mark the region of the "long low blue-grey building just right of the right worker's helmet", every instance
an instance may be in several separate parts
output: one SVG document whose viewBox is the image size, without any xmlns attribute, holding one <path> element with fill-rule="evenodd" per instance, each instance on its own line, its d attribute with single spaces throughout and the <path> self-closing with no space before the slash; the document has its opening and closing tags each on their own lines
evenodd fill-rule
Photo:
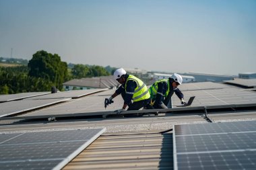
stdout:
<svg viewBox="0 0 256 170">
<path fill-rule="evenodd" d="M 205 82 L 205 81 L 212 81 L 212 82 L 222 82 L 226 80 L 232 80 L 235 76 L 230 75 L 212 75 L 212 74 L 204 74 L 204 73 L 184 73 L 183 75 L 189 75 L 195 77 L 197 82 Z"/>
</svg>

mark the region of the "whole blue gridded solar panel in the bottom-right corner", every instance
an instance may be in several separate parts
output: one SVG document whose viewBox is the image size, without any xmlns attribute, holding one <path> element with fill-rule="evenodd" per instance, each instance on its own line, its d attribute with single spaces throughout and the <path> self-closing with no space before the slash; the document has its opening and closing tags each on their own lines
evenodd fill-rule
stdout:
<svg viewBox="0 0 256 170">
<path fill-rule="evenodd" d="M 174 169 L 255 169 L 256 121 L 174 126 Z"/>
</svg>

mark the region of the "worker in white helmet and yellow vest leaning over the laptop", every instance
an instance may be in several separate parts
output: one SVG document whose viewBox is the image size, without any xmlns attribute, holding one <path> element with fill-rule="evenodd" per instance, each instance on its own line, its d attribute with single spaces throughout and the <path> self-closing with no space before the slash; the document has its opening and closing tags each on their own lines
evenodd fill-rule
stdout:
<svg viewBox="0 0 256 170">
<path fill-rule="evenodd" d="M 174 73 L 169 79 L 156 81 L 149 89 L 151 98 L 150 105 L 152 105 L 154 109 L 167 109 L 166 105 L 168 105 L 174 92 L 179 99 L 181 99 L 181 104 L 185 104 L 186 101 L 183 98 L 183 93 L 178 88 L 178 85 L 181 85 L 182 81 L 183 78 L 177 73 Z"/>
</svg>

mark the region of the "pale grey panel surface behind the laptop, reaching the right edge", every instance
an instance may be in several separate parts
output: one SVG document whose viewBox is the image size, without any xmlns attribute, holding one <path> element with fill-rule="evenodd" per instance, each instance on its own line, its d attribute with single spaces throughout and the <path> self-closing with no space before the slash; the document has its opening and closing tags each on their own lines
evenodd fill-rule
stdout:
<svg viewBox="0 0 256 170">
<path fill-rule="evenodd" d="M 198 91 L 182 91 L 186 100 L 191 96 L 195 99 L 191 106 L 236 105 L 256 103 L 255 91 L 245 91 L 238 88 L 206 89 Z M 180 99 L 172 95 L 172 105 L 181 105 Z"/>
</svg>

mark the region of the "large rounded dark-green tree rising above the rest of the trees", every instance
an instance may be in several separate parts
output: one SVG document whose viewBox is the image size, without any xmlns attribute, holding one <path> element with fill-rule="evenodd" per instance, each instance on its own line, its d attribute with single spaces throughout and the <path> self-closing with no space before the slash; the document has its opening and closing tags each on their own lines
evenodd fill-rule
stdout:
<svg viewBox="0 0 256 170">
<path fill-rule="evenodd" d="M 62 62 L 58 54 L 40 50 L 28 62 L 30 77 L 40 77 L 53 82 L 57 89 L 62 89 L 62 83 L 67 81 L 67 62 Z"/>
</svg>

